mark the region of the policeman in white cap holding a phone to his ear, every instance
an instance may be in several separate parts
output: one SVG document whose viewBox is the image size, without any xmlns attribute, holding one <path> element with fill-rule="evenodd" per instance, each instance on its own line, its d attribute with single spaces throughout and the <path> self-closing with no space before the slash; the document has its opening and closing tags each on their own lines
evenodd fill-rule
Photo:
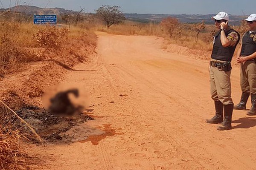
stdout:
<svg viewBox="0 0 256 170">
<path fill-rule="evenodd" d="M 217 130 L 231 129 L 233 101 L 231 98 L 231 59 L 239 42 L 239 33 L 228 26 L 226 12 L 219 12 L 212 17 L 218 29 L 213 40 L 213 49 L 209 65 L 211 96 L 215 104 L 215 116 L 206 119 L 207 123 L 218 124 Z M 223 117 L 224 110 L 224 117 Z M 224 120 L 223 120 L 224 118 Z"/>
</svg>

